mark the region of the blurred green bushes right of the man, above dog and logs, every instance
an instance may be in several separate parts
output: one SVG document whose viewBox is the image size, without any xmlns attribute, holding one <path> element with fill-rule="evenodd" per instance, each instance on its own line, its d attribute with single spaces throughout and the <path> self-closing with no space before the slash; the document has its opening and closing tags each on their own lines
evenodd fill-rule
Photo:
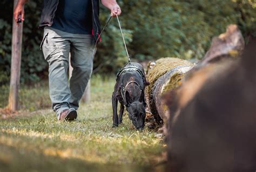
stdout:
<svg viewBox="0 0 256 172">
<path fill-rule="evenodd" d="M 126 35 L 130 40 L 126 43 L 132 60 L 160 57 L 201 59 L 212 37 L 225 32 L 229 24 L 238 24 L 246 40 L 256 36 L 256 8 L 251 0 L 123 0 L 118 3 L 122 8 L 119 17 L 122 27 L 130 33 L 129 37 Z M 105 8 L 102 11 L 101 19 L 106 21 L 105 14 L 109 11 Z M 103 33 L 95 64 L 104 64 L 100 70 L 103 72 L 115 68 L 117 71 L 126 61 L 117 20 L 113 18 Z"/>
</svg>

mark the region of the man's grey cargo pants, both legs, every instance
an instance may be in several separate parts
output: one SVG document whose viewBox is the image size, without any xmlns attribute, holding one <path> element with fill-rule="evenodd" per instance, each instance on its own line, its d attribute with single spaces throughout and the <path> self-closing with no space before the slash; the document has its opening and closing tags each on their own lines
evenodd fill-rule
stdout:
<svg viewBox="0 0 256 172">
<path fill-rule="evenodd" d="M 64 109 L 77 109 L 92 73 L 95 51 L 92 35 L 67 33 L 45 27 L 40 47 L 49 63 L 49 90 L 53 111 L 59 115 Z M 70 80 L 69 53 L 73 67 Z"/>
</svg>

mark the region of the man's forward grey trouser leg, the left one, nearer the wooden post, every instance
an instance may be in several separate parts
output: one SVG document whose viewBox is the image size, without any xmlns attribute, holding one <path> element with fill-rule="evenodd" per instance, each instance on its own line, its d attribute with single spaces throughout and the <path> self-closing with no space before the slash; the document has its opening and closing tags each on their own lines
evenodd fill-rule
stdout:
<svg viewBox="0 0 256 172">
<path fill-rule="evenodd" d="M 70 89 L 68 84 L 68 66 L 70 42 L 65 32 L 46 27 L 41 44 L 44 57 L 49 63 L 49 90 L 52 108 L 59 114 L 69 109 Z"/>
</svg>

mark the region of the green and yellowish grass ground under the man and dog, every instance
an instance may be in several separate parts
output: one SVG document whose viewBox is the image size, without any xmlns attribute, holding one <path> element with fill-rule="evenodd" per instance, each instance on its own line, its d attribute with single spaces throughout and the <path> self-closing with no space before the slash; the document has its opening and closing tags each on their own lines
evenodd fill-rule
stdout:
<svg viewBox="0 0 256 172">
<path fill-rule="evenodd" d="M 80 104 L 75 122 L 57 121 L 47 84 L 22 86 L 21 111 L 0 114 L 0 171 L 163 171 L 162 136 L 138 132 L 127 114 L 112 128 L 114 82 L 92 77 L 91 102 Z"/>
</svg>

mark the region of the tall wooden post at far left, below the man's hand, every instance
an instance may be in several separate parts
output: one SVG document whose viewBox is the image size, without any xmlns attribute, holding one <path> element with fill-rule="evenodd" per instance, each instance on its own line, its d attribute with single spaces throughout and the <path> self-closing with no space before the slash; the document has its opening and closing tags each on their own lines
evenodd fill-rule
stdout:
<svg viewBox="0 0 256 172">
<path fill-rule="evenodd" d="M 14 0 L 14 8 L 18 0 Z M 11 111 L 18 109 L 18 90 L 19 78 L 21 75 L 21 55 L 22 55 L 22 32 L 23 23 L 16 26 L 14 18 L 12 19 L 12 46 L 11 46 L 11 80 L 8 108 Z"/>
</svg>

